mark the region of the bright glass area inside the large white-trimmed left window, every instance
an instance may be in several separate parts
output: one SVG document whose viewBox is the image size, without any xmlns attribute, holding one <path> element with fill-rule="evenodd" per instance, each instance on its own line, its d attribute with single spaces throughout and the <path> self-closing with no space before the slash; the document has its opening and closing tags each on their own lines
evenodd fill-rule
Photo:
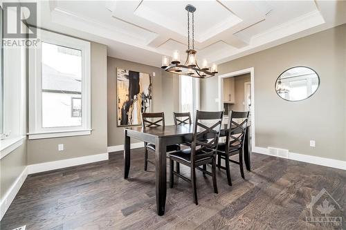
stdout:
<svg viewBox="0 0 346 230">
<path fill-rule="evenodd" d="M 71 116 L 74 95 L 82 95 L 81 50 L 42 42 L 42 127 L 82 126 Z"/>
</svg>

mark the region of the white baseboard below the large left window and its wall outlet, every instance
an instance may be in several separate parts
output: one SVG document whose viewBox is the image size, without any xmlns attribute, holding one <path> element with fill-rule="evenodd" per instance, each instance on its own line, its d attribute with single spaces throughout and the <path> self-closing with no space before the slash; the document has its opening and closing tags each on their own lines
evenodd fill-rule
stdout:
<svg viewBox="0 0 346 230">
<path fill-rule="evenodd" d="M 100 162 L 102 160 L 108 160 L 108 153 L 101 153 L 96 155 L 87 155 L 84 157 L 75 157 L 66 160 L 57 160 L 55 162 L 44 162 L 40 164 L 28 165 L 28 174 L 41 173 L 44 171 L 50 171 L 54 169 L 62 169 L 66 167 L 76 166 L 80 164 L 89 164 L 93 162 Z"/>
</svg>

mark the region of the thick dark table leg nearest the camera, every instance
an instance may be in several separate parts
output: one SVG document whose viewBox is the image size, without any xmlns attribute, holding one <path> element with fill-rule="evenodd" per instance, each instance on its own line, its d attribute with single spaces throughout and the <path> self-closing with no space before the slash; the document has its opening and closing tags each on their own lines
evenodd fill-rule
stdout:
<svg viewBox="0 0 346 230">
<path fill-rule="evenodd" d="M 166 204 L 166 140 L 164 138 L 156 138 L 155 141 L 155 175 L 156 175 L 156 208 L 158 215 L 165 214 Z"/>
</svg>

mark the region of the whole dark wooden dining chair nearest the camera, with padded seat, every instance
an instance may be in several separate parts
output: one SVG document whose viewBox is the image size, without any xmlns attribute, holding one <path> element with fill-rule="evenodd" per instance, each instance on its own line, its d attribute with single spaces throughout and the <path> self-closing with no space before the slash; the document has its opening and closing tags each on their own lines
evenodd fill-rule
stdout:
<svg viewBox="0 0 346 230">
<path fill-rule="evenodd" d="M 197 111 L 194 121 L 194 131 L 192 133 L 191 148 L 175 151 L 169 154 L 170 157 L 170 188 L 174 185 L 174 175 L 179 178 L 190 182 L 192 184 L 194 203 L 197 205 L 197 181 L 196 169 L 212 176 L 212 184 L 214 192 L 217 191 L 217 178 L 216 178 L 216 157 L 217 157 L 217 143 L 219 142 L 219 135 L 222 124 L 223 112 L 205 112 Z M 203 123 L 202 123 L 203 122 Z M 203 142 L 203 138 L 208 133 L 208 142 Z M 190 167 L 190 178 L 181 175 L 179 172 L 174 171 L 174 162 L 179 162 L 185 166 Z M 206 164 L 212 165 L 211 173 L 200 166 Z"/>
</svg>

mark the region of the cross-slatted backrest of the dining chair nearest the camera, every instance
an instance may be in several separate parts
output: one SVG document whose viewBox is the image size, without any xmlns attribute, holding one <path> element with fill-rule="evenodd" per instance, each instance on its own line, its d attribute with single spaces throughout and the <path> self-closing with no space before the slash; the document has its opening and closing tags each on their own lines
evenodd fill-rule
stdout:
<svg viewBox="0 0 346 230">
<path fill-rule="evenodd" d="M 224 112 L 197 111 L 191 143 L 191 162 L 216 155 Z M 206 139 L 206 137 L 208 139 Z M 200 146 L 197 149 L 197 146 Z M 199 154 L 197 155 L 197 151 Z"/>
</svg>

